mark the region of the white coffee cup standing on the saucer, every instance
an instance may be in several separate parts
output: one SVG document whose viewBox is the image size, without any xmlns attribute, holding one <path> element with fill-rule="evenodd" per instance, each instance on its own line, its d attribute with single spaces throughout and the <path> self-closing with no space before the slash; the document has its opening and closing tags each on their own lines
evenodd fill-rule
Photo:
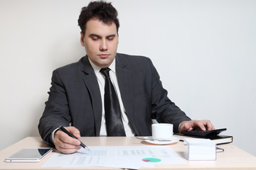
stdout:
<svg viewBox="0 0 256 170">
<path fill-rule="evenodd" d="M 174 125 L 170 123 L 152 124 L 152 137 L 155 140 L 170 140 L 173 137 Z"/>
</svg>

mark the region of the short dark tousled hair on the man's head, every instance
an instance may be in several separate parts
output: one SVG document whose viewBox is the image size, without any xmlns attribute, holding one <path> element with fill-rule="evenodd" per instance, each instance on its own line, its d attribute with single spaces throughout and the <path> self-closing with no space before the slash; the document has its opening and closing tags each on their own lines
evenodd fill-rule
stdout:
<svg viewBox="0 0 256 170">
<path fill-rule="evenodd" d="M 85 35 L 85 25 L 91 18 L 97 18 L 109 25 L 114 22 L 117 26 L 118 33 L 119 21 L 117 18 L 117 10 L 112 6 L 111 2 L 91 1 L 88 6 L 82 7 L 78 18 L 78 26 L 80 26 L 83 35 Z"/>
</svg>

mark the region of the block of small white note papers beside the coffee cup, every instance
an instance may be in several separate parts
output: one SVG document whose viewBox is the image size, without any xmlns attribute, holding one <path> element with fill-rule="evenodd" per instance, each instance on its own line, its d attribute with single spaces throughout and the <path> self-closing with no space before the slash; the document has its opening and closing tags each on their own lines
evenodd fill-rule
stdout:
<svg viewBox="0 0 256 170">
<path fill-rule="evenodd" d="M 216 160 L 216 144 L 209 139 L 184 138 L 184 156 L 189 161 Z"/>
</svg>

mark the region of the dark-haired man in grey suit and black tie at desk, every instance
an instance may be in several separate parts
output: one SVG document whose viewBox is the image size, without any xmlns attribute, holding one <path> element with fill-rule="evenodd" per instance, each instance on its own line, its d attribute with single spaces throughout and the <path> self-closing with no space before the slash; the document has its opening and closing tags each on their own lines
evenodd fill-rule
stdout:
<svg viewBox="0 0 256 170">
<path fill-rule="evenodd" d="M 149 58 L 117 53 L 119 21 L 110 3 L 91 2 L 82 8 L 78 24 L 80 42 L 87 55 L 53 71 L 49 98 L 38 125 L 48 145 L 67 154 L 80 149 L 79 140 L 58 130 L 60 126 L 78 138 L 119 134 L 150 136 L 152 118 L 159 123 L 174 124 L 174 132 L 214 129 L 209 120 L 191 120 L 169 100 Z M 109 68 L 109 75 L 102 71 L 104 68 Z M 119 118 L 110 116 L 112 111 L 108 111 L 108 105 L 114 102 L 106 99 L 112 93 L 106 91 L 106 86 L 114 86 Z M 110 130 L 115 123 L 122 129 L 121 133 L 117 132 L 117 126 Z"/>
</svg>

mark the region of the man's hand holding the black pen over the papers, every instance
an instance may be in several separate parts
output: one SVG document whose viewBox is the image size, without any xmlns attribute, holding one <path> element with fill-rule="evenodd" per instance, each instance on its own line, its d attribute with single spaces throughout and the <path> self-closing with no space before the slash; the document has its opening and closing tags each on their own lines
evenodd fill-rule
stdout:
<svg viewBox="0 0 256 170">
<path fill-rule="evenodd" d="M 75 137 L 80 138 L 80 132 L 77 128 L 70 126 L 66 127 L 65 129 L 72 133 Z M 53 143 L 56 149 L 64 154 L 72 154 L 81 148 L 79 140 L 70 137 L 60 129 L 55 132 Z"/>
</svg>

